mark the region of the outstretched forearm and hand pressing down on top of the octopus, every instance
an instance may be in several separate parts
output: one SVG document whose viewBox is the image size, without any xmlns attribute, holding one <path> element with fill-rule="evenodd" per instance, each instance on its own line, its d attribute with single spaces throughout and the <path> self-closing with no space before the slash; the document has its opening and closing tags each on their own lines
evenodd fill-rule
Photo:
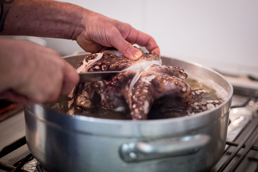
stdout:
<svg viewBox="0 0 258 172">
<path fill-rule="evenodd" d="M 6 4 L 5 4 L 6 5 Z M 42 8 L 44 7 L 44 8 Z M 76 40 L 87 52 L 118 49 L 126 58 L 137 60 L 142 53 L 132 44 L 160 54 L 153 37 L 78 5 L 58 1 L 13 1 L 0 35 L 30 35 Z"/>
</svg>

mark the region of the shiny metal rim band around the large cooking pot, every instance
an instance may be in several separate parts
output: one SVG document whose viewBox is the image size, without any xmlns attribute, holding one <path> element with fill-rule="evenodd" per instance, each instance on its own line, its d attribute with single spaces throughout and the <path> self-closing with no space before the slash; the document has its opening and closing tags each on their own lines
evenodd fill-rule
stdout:
<svg viewBox="0 0 258 172">
<path fill-rule="evenodd" d="M 82 55 L 82 54 L 80 54 Z M 73 55 L 74 56 L 74 55 Z M 66 56 L 68 57 L 68 56 Z M 172 60 L 177 60 L 171 58 Z M 94 135 L 121 135 L 121 132 L 118 132 L 119 128 L 123 128 L 124 132 L 122 132 L 123 136 L 131 137 L 132 135 L 136 137 L 142 136 L 153 136 L 153 135 L 171 135 L 173 133 L 180 133 L 185 131 L 191 131 L 196 128 L 200 128 L 204 125 L 207 125 L 211 122 L 218 120 L 221 117 L 224 117 L 228 112 L 233 95 L 233 87 L 232 84 L 220 73 L 198 64 L 196 62 L 179 60 L 181 62 L 189 63 L 195 66 L 199 66 L 200 68 L 204 68 L 209 70 L 210 72 L 215 73 L 224 79 L 227 84 L 230 86 L 230 93 L 226 100 L 218 107 L 207 110 L 204 112 L 200 112 L 191 116 L 181 116 L 176 118 L 166 118 L 166 119 L 149 119 L 149 120 L 120 120 L 120 119 L 104 119 L 104 118 L 95 118 L 81 115 L 68 115 L 66 113 L 56 112 L 50 108 L 42 104 L 34 104 L 34 105 L 25 105 L 25 110 L 29 110 L 32 115 L 44 122 L 50 122 L 49 124 L 58 125 L 62 128 L 67 128 L 72 131 L 79 131 L 83 133 L 90 133 Z M 35 114 L 36 112 L 36 114 Z M 49 114 L 51 113 L 51 115 Z M 54 114 L 53 114 L 54 113 Z M 56 116 L 56 118 L 53 118 Z M 58 121 L 58 119 L 64 116 L 64 120 Z M 73 125 L 67 125 L 67 122 L 73 123 Z M 88 127 L 83 127 L 87 125 Z M 100 127 L 102 129 L 99 129 Z M 155 128 L 158 128 L 158 131 L 154 131 Z M 137 129 L 137 133 L 135 133 L 135 128 Z M 128 130 L 128 131 L 126 131 Z M 130 131 L 131 130 L 131 131 Z M 173 130 L 173 131 L 164 131 L 164 130 Z"/>
</svg>

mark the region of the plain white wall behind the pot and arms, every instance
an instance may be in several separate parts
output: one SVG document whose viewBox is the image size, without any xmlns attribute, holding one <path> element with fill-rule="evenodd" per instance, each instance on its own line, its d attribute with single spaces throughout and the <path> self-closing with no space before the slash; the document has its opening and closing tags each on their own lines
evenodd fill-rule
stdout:
<svg viewBox="0 0 258 172">
<path fill-rule="evenodd" d="M 129 23 L 157 41 L 162 56 L 231 74 L 258 76 L 257 0 L 65 0 Z M 75 41 L 47 38 L 63 55 Z M 52 45 L 50 45 L 52 44 Z"/>
</svg>

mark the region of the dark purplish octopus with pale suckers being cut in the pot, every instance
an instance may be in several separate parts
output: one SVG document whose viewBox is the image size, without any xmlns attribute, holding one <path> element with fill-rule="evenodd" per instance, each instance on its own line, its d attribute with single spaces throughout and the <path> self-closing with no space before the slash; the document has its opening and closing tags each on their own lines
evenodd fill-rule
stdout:
<svg viewBox="0 0 258 172">
<path fill-rule="evenodd" d="M 193 89 L 185 82 L 184 70 L 161 65 L 161 58 L 155 53 L 142 53 L 135 61 L 117 50 L 86 56 L 77 66 L 77 72 L 121 72 L 108 80 L 79 83 L 68 96 L 67 114 L 94 108 L 95 94 L 100 96 L 101 107 L 129 112 L 132 120 L 148 119 L 151 107 L 157 104 L 165 109 L 191 108 Z"/>
</svg>

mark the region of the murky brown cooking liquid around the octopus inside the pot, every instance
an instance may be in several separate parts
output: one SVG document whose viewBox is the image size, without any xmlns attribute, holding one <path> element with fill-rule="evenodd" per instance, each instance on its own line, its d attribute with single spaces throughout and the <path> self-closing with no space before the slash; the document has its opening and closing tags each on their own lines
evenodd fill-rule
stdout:
<svg viewBox="0 0 258 172">
<path fill-rule="evenodd" d="M 194 108 L 196 104 L 205 104 L 207 100 L 221 100 L 221 98 L 218 98 L 216 95 L 216 91 L 196 80 L 187 78 L 186 79 L 187 84 L 189 84 L 193 88 L 193 93 L 195 94 L 193 101 L 194 104 L 191 105 L 191 107 L 187 110 L 175 110 L 175 109 L 166 109 L 162 106 L 162 104 L 154 104 L 150 112 L 148 114 L 148 119 L 161 119 L 161 118 L 175 118 L 180 116 L 187 116 L 187 115 L 194 115 L 198 112 L 203 112 L 204 110 L 202 108 L 196 109 Z M 198 93 L 198 90 L 202 90 Z M 93 108 L 91 110 L 83 111 L 81 109 L 75 110 L 79 115 L 83 116 L 90 116 L 95 118 L 107 118 L 107 119 L 129 119 L 130 120 L 130 112 L 114 112 L 112 110 L 109 110 L 107 108 L 102 108 L 100 106 L 100 96 L 94 95 L 93 96 L 93 104 L 95 104 L 96 108 Z M 166 98 L 163 98 L 166 102 Z M 94 103 L 95 102 L 95 103 Z M 60 96 L 59 99 L 56 102 L 47 102 L 45 105 L 48 108 L 52 108 L 58 112 L 67 112 L 66 106 L 67 106 L 67 96 Z M 207 110 L 207 108 L 206 108 Z"/>
</svg>

